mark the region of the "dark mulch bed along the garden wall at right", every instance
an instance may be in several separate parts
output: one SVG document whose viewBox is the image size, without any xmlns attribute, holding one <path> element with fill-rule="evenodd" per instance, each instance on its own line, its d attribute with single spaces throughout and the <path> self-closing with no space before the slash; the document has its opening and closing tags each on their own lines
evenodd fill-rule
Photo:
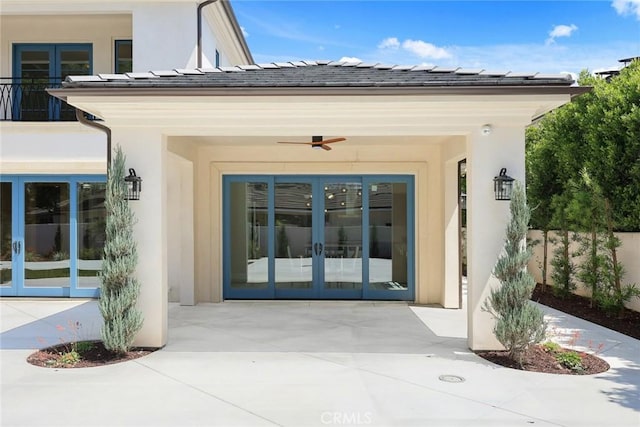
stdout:
<svg viewBox="0 0 640 427">
<path fill-rule="evenodd" d="M 589 298 L 579 295 L 559 298 L 550 286 L 541 284 L 536 286 L 531 300 L 640 340 L 640 312 L 625 308 L 622 318 L 612 316 L 592 308 Z"/>
</svg>

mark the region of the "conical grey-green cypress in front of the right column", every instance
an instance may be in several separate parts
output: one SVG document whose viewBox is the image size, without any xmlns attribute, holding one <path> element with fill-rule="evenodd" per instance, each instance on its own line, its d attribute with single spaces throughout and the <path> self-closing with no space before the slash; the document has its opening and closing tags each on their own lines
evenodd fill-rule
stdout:
<svg viewBox="0 0 640 427">
<path fill-rule="evenodd" d="M 493 333 L 509 357 L 522 365 L 527 348 L 544 339 L 546 324 L 542 311 L 529 301 L 535 287 L 535 280 L 527 271 L 531 249 L 526 237 L 531 210 L 519 182 L 514 183 L 510 211 L 504 252 L 493 270 L 500 286 L 491 290 L 483 309 L 496 319 Z"/>
</svg>

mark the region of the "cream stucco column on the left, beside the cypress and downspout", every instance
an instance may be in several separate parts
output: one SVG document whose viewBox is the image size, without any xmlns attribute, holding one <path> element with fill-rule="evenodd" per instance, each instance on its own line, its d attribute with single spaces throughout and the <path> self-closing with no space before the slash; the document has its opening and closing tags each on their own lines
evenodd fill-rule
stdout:
<svg viewBox="0 0 640 427">
<path fill-rule="evenodd" d="M 136 276 L 140 281 L 138 307 L 144 324 L 134 345 L 161 347 L 167 342 L 167 142 L 158 132 L 112 129 L 113 148 L 122 147 L 126 170 L 134 168 L 142 178 L 140 200 L 130 201 L 137 218 L 134 235 L 138 245 Z"/>
</svg>

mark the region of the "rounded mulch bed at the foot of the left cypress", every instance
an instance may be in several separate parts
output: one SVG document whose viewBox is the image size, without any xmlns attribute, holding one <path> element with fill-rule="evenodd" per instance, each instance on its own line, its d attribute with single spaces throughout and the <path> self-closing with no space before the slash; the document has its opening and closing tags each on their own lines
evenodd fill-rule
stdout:
<svg viewBox="0 0 640 427">
<path fill-rule="evenodd" d="M 157 349 L 133 348 L 131 351 L 118 355 L 104 348 L 102 341 L 90 341 L 91 348 L 83 350 L 80 360 L 75 363 L 65 363 L 64 355 L 70 351 L 69 344 L 59 344 L 32 353 L 27 362 L 45 368 L 88 368 L 93 366 L 111 365 L 138 359 L 153 353 Z"/>
</svg>

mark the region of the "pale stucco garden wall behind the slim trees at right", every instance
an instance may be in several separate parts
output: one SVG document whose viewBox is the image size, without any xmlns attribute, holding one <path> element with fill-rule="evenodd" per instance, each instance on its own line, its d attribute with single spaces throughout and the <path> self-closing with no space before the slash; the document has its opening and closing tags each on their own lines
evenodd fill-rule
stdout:
<svg viewBox="0 0 640 427">
<path fill-rule="evenodd" d="M 557 239 L 555 232 L 550 232 L 550 237 Z M 635 283 L 640 286 L 640 233 L 616 233 L 616 236 L 622 242 L 622 246 L 618 248 L 618 261 L 622 263 L 625 270 L 625 275 L 622 282 L 624 284 Z M 529 238 L 533 240 L 539 240 L 540 243 L 533 248 L 533 256 L 529 261 L 529 271 L 536 279 L 536 282 L 542 283 L 542 263 L 544 261 L 544 246 L 542 244 L 542 232 L 539 230 L 531 230 L 529 232 Z M 553 279 L 551 278 L 551 272 L 553 267 L 551 266 L 551 260 L 553 259 L 553 250 L 559 244 L 549 242 L 547 246 L 547 283 L 553 285 Z M 574 253 L 578 249 L 576 242 L 571 244 L 570 252 Z M 576 267 L 580 263 L 580 258 L 573 259 Z M 578 288 L 575 293 L 578 295 L 588 296 L 591 291 L 587 289 L 584 284 L 574 278 Z M 640 298 L 634 298 L 625 306 L 631 310 L 640 311 Z"/>
</svg>

